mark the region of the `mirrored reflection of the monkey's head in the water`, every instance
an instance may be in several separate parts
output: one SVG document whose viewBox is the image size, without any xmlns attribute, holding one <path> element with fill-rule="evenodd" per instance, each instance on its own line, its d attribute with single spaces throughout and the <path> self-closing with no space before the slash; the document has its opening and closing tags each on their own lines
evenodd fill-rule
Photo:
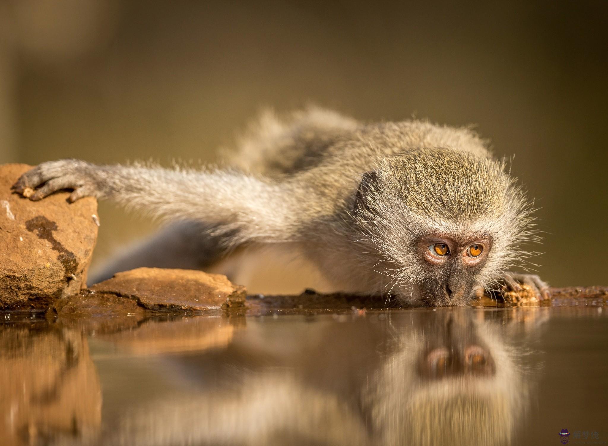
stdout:
<svg viewBox="0 0 608 446">
<path fill-rule="evenodd" d="M 517 351 L 470 314 L 398 338 L 366 399 L 381 444 L 510 444 L 528 385 Z"/>
</svg>

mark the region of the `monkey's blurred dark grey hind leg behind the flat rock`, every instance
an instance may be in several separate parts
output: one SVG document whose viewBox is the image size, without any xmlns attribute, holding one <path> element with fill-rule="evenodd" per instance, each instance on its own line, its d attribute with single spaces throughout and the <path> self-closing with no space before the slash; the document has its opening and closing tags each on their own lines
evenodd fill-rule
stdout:
<svg viewBox="0 0 608 446">
<path fill-rule="evenodd" d="M 203 269 L 223 252 L 221 239 L 210 234 L 209 225 L 179 221 L 119 253 L 94 271 L 87 283 L 98 283 L 114 273 L 139 267 Z"/>
</svg>

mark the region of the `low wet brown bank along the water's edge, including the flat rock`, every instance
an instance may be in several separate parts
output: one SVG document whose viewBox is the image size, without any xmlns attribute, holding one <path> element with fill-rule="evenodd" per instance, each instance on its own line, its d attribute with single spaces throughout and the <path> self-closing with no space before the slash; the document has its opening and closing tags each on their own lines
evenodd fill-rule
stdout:
<svg viewBox="0 0 608 446">
<path fill-rule="evenodd" d="M 149 269 L 145 269 L 149 270 Z M 166 273 L 165 277 L 181 274 L 178 272 Z M 185 286 L 179 281 L 168 281 L 166 287 L 161 287 L 162 281 L 152 277 L 144 281 L 141 287 L 138 283 L 142 279 L 134 272 L 121 273 L 114 279 L 98 284 L 92 289 L 81 290 L 72 297 L 61 298 L 55 301 L 47 311 L 47 317 L 61 319 L 78 319 L 95 317 L 101 321 L 103 317 L 111 319 L 129 315 L 143 318 L 152 314 L 272 314 L 274 312 L 340 312 L 353 310 L 398 309 L 398 301 L 387 300 L 379 296 L 357 296 L 343 293 L 322 294 L 314 290 L 306 290 L 300 295 L 250 295 L 246 296 L 243 287 L 234 286 L 224 276 L 215 280 L 221 284 L 217 289 L 210 287 L 212 278 L 206 278 L 206 273 L 198 273 L 201 278 L 209 280 L 199 283 L 197 292 L 193 284 Z M 145 275 L 150 274 L 146 271 Z M 160 273 L 163 275 L 164 273 Z M 117 286 L 120 284 L 120 286 Z M 218 292 L 218 289 L 221 290 Z M 190 290 L 190 292 L 188 292 Z M 605 306 L 608 304 L 608 287 L 568 287 L 551 289 L 552 297 L 538 301 L 520 298 L 517 301 L 505 301 L 484 295 L 471 301 L 474 307 L 530 307 L 530 306 Z M 102 316 L 102 318 L 100 318 Z"/>
</svg>

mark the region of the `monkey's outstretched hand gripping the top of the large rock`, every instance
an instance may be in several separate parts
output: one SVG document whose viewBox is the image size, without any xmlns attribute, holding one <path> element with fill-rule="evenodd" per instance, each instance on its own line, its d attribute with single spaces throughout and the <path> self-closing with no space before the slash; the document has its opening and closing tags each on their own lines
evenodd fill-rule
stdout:
<svg viewBox="0 0 608 446">
<path fill-rule="evenodd" d="M 69 201 L 82 197 L 103 198 L 109 193 L 108 172 L 85 161 L 64 159 L 42 163 L 22 174 L 12 189 L 38 201 L 62 189 L 72 190 Z"/>
</svg>

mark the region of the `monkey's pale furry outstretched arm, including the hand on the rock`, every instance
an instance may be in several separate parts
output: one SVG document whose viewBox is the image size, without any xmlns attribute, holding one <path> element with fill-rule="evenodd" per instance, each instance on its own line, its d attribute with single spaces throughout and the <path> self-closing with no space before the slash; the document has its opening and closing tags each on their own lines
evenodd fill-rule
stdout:
<svg viewBox="0 0 608 446">
<path fill-rule="evenodd" d="M 71 189 L 71 202 L 85 196 L 112 199 L 160 218 L 218 225 L 243 241 L 291 240 L 302 225 L 291 216 L 305 205 L 289 193 L 289 185 L 243 173 L 98 166 L 72 159 L 42 163 L 13 186 L 21 194 L 27 188 L 35 189 L 33 201 Z"/>
</svg>

